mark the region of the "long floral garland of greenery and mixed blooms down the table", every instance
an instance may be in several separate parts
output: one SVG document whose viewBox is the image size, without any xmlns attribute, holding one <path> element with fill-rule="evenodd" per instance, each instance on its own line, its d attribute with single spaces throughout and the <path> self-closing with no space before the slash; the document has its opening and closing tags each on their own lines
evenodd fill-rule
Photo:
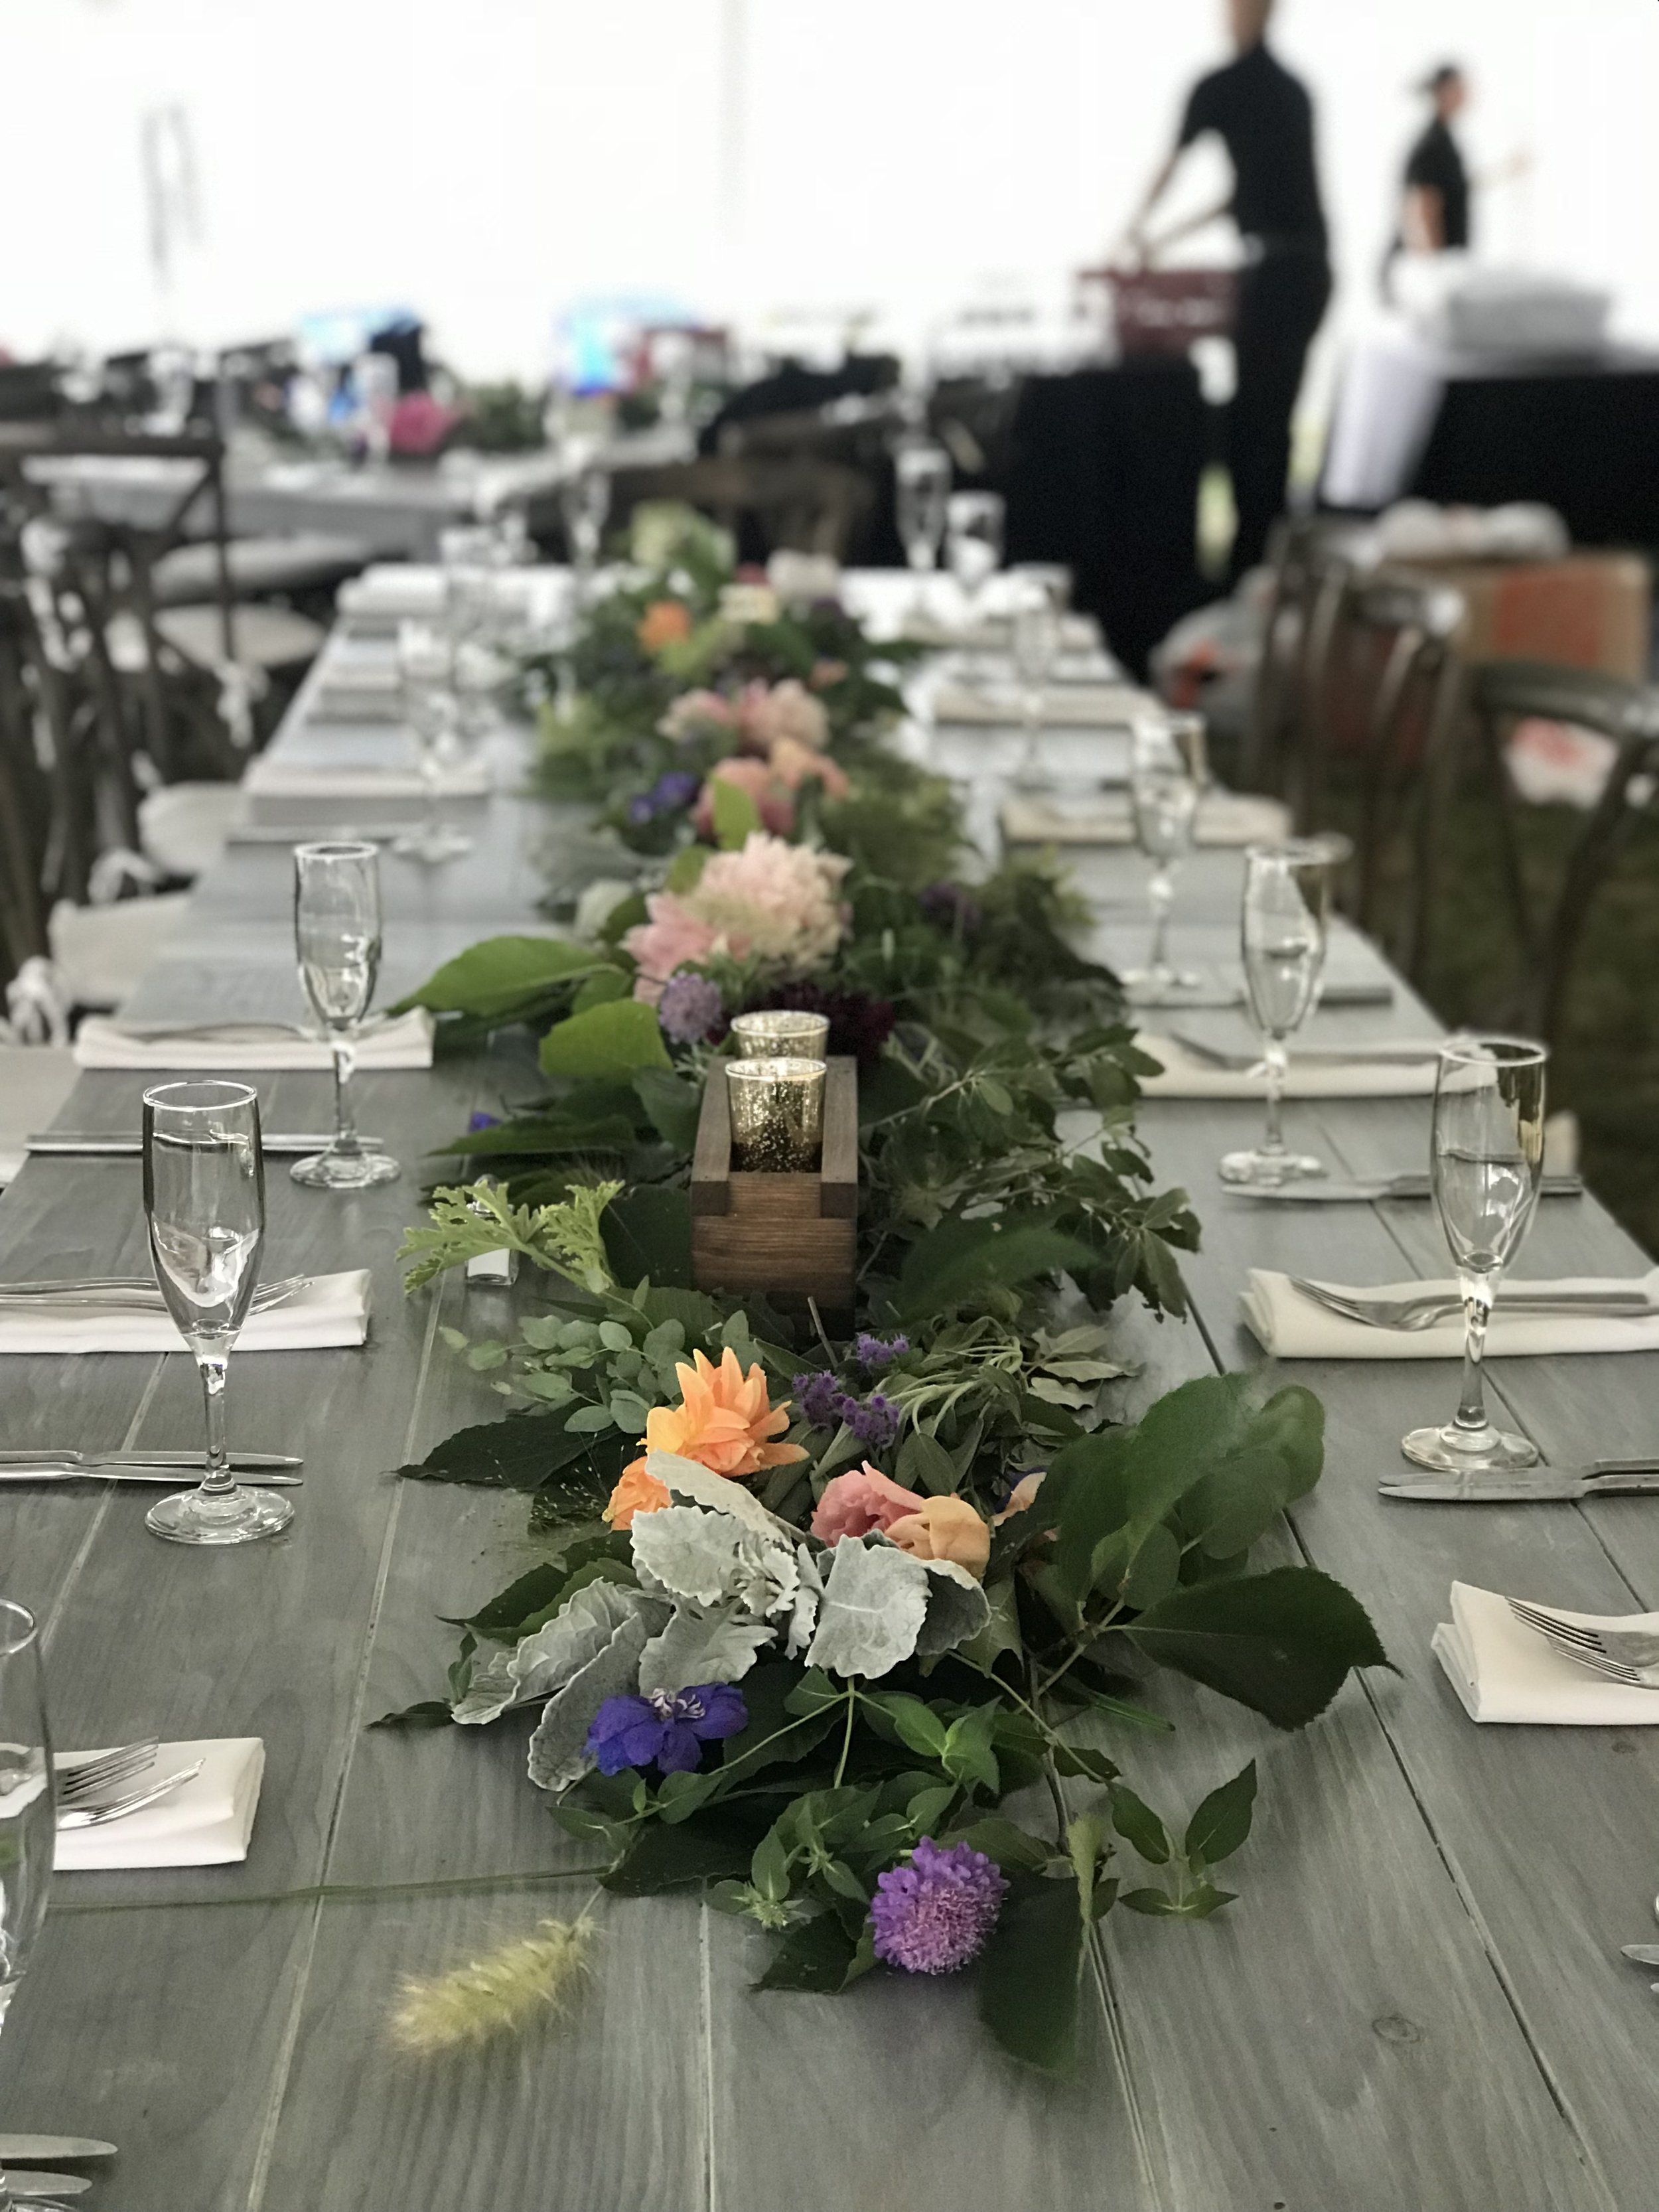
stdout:
<svg viewBox="0 0 1659 2212">
<path fill-rule="evenodd" d="M 549 739 L 560 772 L 584 748 L 608 779 L 617 834 L 648 830 L 659 889 L 586 942 L 491 940 L 416 993 L 460 1042 L 544 1033 L 542 1095 L 456 1139 L 493 1172 L 436 1194 L 409 1285 L 509 1248 L 546 1310 L 513 1343 L 447 1332 L 513 1411 L 405 1473 L 526 1493 L 544 1557 L 465 1624 L 449 1697 L 387 1721 L 535 1710 L 531 1781 L 604 1887 L 710 1885 L 774 1936 L 765 1989 L 973 1962 L 995 2039 L 1064 2070 L 1102 1913 L 1208 1916 L 1250 1832 L 1254 1765 L 1179 1829 L 1124 1781 L 1119 1739 L 1168 1728 L 1148 1674 L 1296 1728 L 1387 1659 L 1340 1584 L 1250 1571 L 1318 1480 L 1307 1391 L 1203 1378 L 1135 1427 L 1104 1418 L 1124 1369 L 1099 1316 L 1124 1294 L 1179 1312 L 1197 1225 L 1141 1188 L 1148 1062 L 1068 949 L 1064 894 L 887 872 L 894 812 L 929 827 L 929 867 L 940 841 L 953 856 L 949 794 L 883 754 L 885 708 L 836 726 L 849 677 L 814 690 L 807 646 L 779 646 L 772 604 L 739 622 L 706 553 L 672 540 L 593 611 L 582 703 Z M 874 648 L 814 619 L 878 701 Z M 872 790 L 889 821 L 867 838 Z M 690 1287 L 701 1084 L 730 1015 L 765 1002 L 821 1006 L 860 1057 L 845 1343 Z"/>
</svg>

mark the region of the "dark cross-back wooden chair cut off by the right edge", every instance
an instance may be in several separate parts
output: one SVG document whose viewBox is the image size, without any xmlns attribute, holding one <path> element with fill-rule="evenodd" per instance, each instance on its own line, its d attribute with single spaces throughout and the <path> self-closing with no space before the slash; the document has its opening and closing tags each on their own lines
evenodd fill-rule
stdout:
<svg viewBox="0 0 1659 2212">
<path fill-rule="evenodd" d="M 1555 1044 L 1597 896 L 1644 814 L 1659 810 L 1659 686 L 1542 661 L 1491 661 L 1469 684 L 1469 732 L 1495 796 L 1504 889 L 1520 938 L 1513 1018 Z M 1617 748 L 1553 889 L 1528 883 L 1506 741 L 1522 721 L 1593 730 Z"/>
</svg>

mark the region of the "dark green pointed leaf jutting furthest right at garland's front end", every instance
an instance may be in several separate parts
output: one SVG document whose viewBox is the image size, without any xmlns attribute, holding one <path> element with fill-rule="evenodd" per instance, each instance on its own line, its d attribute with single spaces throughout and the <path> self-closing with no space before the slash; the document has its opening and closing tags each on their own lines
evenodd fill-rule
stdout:
<svg viewBox="0 0 1659 2212">
<path fill-rule="evenodd" d="M 1148 1659 L 1263 1712 L 1274 1728 L 1321 1714 L 1349 1668 L 1391 1663 L 1360 1601 L 1314 1566 L 1175 1590 L 1128 1637 Z"/>
</svg>

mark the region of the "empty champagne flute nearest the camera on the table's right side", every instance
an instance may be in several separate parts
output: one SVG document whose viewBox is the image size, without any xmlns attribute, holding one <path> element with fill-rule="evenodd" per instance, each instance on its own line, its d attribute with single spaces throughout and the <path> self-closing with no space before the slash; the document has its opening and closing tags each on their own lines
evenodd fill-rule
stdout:
<svg viewBox="0 0 1659 2212">
<path fill-rule="evenodd" d="M 1402 1440 L 1418 1467 L 1500 1473 L 1537 1464 L 1537 1444 L 1486 1418 L 1482 1360 L 1498 1283 L 1537 1206 L 1546 1068 L 1546 1046 L 1524 1037 L 1453 1037 L 1440 1048 L 1429 1172 L 1462 1290 L 1462 1396 L 1442 1429 Z"/>
</svg>

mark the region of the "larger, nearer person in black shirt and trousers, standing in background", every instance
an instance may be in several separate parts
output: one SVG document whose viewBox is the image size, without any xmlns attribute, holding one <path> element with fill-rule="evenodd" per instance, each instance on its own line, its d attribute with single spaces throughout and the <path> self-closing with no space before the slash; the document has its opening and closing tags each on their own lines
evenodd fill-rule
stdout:
<svg viewBox="0 0 1659 2212">
<path fill-rule="evenodd" d="M 1314 159 L 1314 102 L 1267 51 L 1272 0 L 1228 0 L 1239 58 L 1194 88 L 1175 153 L 1152 181 L 1130 228 L 1144 259 L 1177 237 L 1230 215 L 1245 243 L 1234 325 L 1237 392 L 1228 416 L 1228 462 L 1239 531 L 1234 582 L 1254 568 L 1283 513 L 1290 478 L 1290 425 L 1307 349 L 1332 299 L 1329 241 Z M 1232 159 L 1232 199 L 1168 232 L 1159 248 L 1146 221 L 1194 139 L 1214 133 Z"/>
</svg>

